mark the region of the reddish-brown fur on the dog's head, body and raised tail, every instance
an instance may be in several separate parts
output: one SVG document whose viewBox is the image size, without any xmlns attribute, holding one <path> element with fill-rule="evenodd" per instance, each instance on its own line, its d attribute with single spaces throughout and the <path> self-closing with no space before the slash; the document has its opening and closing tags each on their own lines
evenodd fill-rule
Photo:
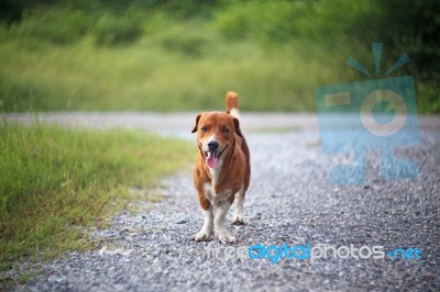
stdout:
<svg viewBox="0 0 440 292">
<path fill-rule="evenodd" d="M 227 94 L 227 113 L 205 112 L 196 117 L 193 133 L 197 132 L 199 155 L 194 170 L 194 186 L 197 190 L 202 210 L 210 210 L 212 204 L 228 200 L 231 204 L 235 194 L 244 193 L 249 188 L 251 166 L 250 151 L 246 141 L 240 128 L 239 119 L 229 114 L 232 109 L 238 109 L 238 96 L 234 92 Z M 219 143 L 219 149 L 224 149 L 221 155 L 222 162 L 213 178 L 212 169 L 206 164 L 206 145 L 209 139 Z M 206 186 L 212 186 L 213 194 L 207 195 Z M 243 190 L 241 190 L 243 188 Z"/>
</svg>

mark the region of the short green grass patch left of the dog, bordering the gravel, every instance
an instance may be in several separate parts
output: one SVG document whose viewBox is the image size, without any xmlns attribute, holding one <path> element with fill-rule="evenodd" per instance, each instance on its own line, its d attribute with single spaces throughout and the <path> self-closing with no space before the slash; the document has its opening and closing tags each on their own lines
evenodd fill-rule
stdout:
<svg viewBox="0 0 440 292">
<path fill-rule="evenodd" d="M 0 271 L 90 248 L 87 229 L 194 158 L 188 143 L 123 131 L 0 125 Z M 1 279 L 0 279 L 1 280 Z"/>
</svg>

